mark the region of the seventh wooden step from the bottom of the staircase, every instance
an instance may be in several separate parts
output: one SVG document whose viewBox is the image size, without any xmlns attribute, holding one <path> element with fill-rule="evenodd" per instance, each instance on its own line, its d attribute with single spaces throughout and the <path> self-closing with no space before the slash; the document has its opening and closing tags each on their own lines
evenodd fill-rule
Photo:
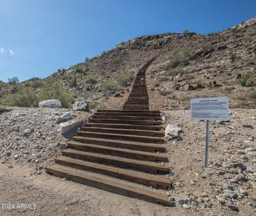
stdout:
<svg viewBox="0 0 256 216">
<path fill-rule="evenodd" d="M 152 131 L 152 130 L 135 130 L 135 129 L 130 129 L 129 130 L 129 129 L 117 129 L 117 128 L 83 127 L 82 131 L 101 132 L 101 133 L 108 133 L 108 134 L 164 137 L 164 132 L 162 132 L 162 131 Z"/>
</svg>

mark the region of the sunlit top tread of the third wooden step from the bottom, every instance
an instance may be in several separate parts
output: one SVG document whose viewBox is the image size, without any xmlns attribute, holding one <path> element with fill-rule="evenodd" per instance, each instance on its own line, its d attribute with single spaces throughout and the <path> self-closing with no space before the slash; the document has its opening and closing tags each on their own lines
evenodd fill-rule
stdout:
<svg viewBox="0 0 256 216">
<path fill-rule="evenodd" d="M 111 155 L 106 155 L 106 154 L 84 152 L 84 151 L 79 151 L 79 150 L 75 150 L 75 149 L 71 149 L 71 148 L 66 148 L 62 152 L 81 154 L 81 155 L 90 155 L 90 156 L 94 156 L 94 157 L 100 157 L 102 159 L 108 158 L 108 159 L 111 159 L 111 160 L 123 161 L 123 162 L 127 162 L 127 163 L 142 164 L 142 165 L 158 168 L 158 169 L 161 169 L 161 170 L 168 170 L 169 171 L 169 168 L 167 168 L 166 166 L 161 165 L 161 164 L 157 164 L 157 163 L 154 163 L 154 162 L 146 162 L 146 161 L 140 161 L 140 160 L 135 160 L 135 159 L 127 159 L 125 157 L 118 157 L 118 156 L 111 156 Z"/>
</svg>

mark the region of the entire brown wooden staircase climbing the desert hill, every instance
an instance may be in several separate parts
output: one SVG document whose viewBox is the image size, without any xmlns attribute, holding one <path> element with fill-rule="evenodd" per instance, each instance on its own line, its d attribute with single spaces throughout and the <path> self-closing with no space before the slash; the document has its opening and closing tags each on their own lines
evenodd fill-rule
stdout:
<svg viewBox="0 0 256 216">
<path fill-rule="evenodd" d="M 149 110 L 141 68 L 123 110 L 97 110 L 46 172 L 149 202 L 173 205 L 159 111 Z"/>
</svg>

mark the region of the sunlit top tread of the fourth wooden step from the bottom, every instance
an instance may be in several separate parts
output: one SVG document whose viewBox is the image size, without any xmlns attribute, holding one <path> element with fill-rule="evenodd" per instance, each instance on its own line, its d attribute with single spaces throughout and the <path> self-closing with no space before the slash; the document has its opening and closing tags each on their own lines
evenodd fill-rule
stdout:
<svg viewBox="0 0 256 216">
<path fill-rule="evenodd" d="M 68 144 L 76 144 L 76 145 L 81 145 L 81 146 L 90 146 L 90 147 L 95 147 L 95 148 L 102 148 L 102 149 L 110 149 L 113 151 L 120 151 L 120 152 L 127 152 L 127 153 L 136 153 L 136 154 L 141 154 L 141 155 L 147 155 L 147 156 L 155 156 L 155 157 L 162 157 L 163 159 L 166 159 L 166 156 L 157 154 L 157 153 L 148 153 L 148 152 L 142 152 L 142 151 L 134 151 L 130 149 L 125 149 L 125 148 L 115 148 L 115 147 L 107 147 L 107 146 L 101 146 L 101 145 L 94 145 L 94 144 L 85 144 L 85 143 L 79 143 L 76 141 L 69 141 Z"/>
</svg>

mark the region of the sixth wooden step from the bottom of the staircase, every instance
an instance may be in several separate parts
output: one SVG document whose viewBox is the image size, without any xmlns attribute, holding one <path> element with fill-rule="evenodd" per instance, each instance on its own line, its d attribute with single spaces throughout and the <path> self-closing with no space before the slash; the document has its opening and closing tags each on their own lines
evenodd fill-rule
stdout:
<svg viewBox="0 0 256 216">
<path fill-rule="evenodd" d="M 127 140 L 127 141 L 135 141 L 135 142 L 142 142 L 142 143 L 164 143 L 164 138 L 162 138 L 162 137 L 146 137 L 146 136 L 122 135 L 122 134 L 108 134 L 108 133 L 87 132 L 87 131 L 78 131 L 77 134 L 80 136 L 84 136 L 84 137 L 118 139 L 118 140 Z"/>
</svg>

